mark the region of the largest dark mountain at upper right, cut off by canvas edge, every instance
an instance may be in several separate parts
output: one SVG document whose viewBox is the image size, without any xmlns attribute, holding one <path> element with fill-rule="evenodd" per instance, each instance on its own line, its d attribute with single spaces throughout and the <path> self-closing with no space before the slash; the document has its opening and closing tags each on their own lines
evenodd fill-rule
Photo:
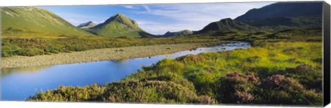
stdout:
<svg viewBox="0 0 331 108">
<path fill-rule="evenodd" d="M 234 19 L 256 27 L 321 28 L 322 2 L 279 2 L 252 9 Z"/>
</svg>

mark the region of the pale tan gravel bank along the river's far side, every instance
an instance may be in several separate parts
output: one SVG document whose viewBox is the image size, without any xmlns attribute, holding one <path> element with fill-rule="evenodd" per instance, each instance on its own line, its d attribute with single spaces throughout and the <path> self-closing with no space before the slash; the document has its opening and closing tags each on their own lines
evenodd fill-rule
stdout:
<svg viewBox="0 0 331 108">
<path fill-rule="evenodd" d="M 221 42 L 226 43 L 226 42 Z M 210 47 L 221 43 L 182 43 L 169 45 L 146 45 L 134 47 L 104 48 L 83 52 L 70 52 L 40 56 L 12 56 L 1 58 L 1 68 L 35 67 L 42 65 L 59 65 L 70 63 L 84 63 L 92 61 L 111 61 L 128 58 L 171 54 L 197 47 Z"/>
</svg>

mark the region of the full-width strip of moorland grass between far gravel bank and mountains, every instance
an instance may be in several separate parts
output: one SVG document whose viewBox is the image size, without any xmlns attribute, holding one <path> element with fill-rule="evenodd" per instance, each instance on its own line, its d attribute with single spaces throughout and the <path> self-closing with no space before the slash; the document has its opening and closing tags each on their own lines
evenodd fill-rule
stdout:
<svg viewBox="0 0 331 108">
<path fill-rule="evenodd" d="M 209 35 L 209 34 L 206 34 Z M 85 50 L 129 47 L 137 45 L 160 45 L 175 43 L 206 43 L 217 41 L 248 41 L 252 45 L 263 45 L 277 41 L 321 41 L 321 29 L 292 29 L 279 32 L 220 32 L 211 36 L 175 36 L 168 38 L 117 38 L 102 36 L 61 35 L 46 36 L 7 36 L 3 35 L 1 56 L 36 56 L 61 52 L 79 52 Z"/>
</svg>

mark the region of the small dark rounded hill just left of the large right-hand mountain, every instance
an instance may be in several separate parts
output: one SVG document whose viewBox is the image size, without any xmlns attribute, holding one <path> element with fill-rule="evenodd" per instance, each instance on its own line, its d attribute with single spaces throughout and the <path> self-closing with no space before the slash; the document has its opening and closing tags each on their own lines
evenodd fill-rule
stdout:
<svg viewBox="0 0 331 108">
<path fill-rule="evenodd" d="M 213 32 L 239 32 L 239 31 L 245 32 L 252 30 L 257 30 L 257 28 L 227 18 L 227 19 L 221 19 L 221 21 L 212 22 L 207 26 L 205 26 L 205 28 L 199 30 L 194 34 L 213 33 Z"/>
</svg>

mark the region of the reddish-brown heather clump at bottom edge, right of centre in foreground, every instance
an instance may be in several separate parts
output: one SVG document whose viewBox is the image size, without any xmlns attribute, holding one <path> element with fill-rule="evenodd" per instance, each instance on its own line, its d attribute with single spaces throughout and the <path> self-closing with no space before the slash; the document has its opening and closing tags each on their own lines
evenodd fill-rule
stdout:
<svg viewBox="0 0 331 108">
<path fill-rule="evenodd" d="M 217 100 L 221 103 L 250 103 L 254 100 L 254 85 L 259 83 L 259 78 L 254 74 L 239 74 L 233 72 L 220 78 L 214 85 Z"/>
</svg>

